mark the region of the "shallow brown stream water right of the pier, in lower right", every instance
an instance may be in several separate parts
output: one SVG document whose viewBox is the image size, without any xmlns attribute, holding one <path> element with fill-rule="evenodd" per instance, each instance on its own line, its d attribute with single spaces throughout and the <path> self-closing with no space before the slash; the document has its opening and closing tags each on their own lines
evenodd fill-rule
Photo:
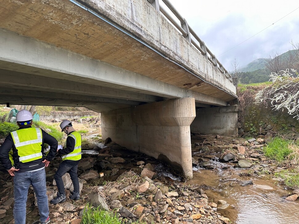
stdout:
<svg viewBox="0 0 299 224">
<path fill-rule="evenodd" d="M 186 184 L 198 184 L 209 200 L 225 200 L 229 206 L 218 211 L 234 224 L 286 224 L 299 223 L 299 203 L 284 198 L 288 190 L 275 180 L 252 178 L 253 185 L 240 186 L 242 169 L 230 167 L 223 170 L 223 163 L 212 162 L 213 170 L 194 168 L 193 179 Z"/>
</svg>

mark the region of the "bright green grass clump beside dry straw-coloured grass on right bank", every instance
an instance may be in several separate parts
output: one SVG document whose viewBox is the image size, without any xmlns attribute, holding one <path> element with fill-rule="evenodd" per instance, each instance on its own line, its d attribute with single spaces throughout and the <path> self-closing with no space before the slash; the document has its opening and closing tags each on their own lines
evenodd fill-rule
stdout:
<svg viewBox="0 0 299 224">
<path fill-rule="evenodd" d="M 271 142 L 269 142 L 268 146 L 264 148 L 265 156 L 275 159 L 278 162 L 282 162 L 293 152 L 293 150 L 289 147 L 290 145 L 291 141 L 289 140 L 274 138 Z"/>
</svg>

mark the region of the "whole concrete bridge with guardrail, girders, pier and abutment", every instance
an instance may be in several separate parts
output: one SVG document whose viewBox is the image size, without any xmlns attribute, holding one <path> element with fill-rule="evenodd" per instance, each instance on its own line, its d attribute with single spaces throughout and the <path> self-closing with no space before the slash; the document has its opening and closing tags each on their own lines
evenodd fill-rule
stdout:
<svg viewBox="0 0 299 224">
<path fill-rule="evenodd" d="M 192 178 L 190 130 L 236 135 L 236 88 L 163 2 L 181 26 L 158 0 L 0 0 L 0 103 L 101 112 L 103 138 Z"/>
</svg>

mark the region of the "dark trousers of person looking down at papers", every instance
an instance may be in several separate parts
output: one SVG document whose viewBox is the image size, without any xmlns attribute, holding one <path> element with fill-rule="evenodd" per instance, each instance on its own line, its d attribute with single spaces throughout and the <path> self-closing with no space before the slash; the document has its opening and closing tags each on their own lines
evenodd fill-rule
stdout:
<svg viewBox="0 0 299 224">
<path fill-rule="evenodd" d="M 78 161 L 78 163 L 79 163 L 79 161 Z M 54 179 L 55 179 L 59 194 L 65 194 L 62 176 L 64 174 L 66 174 L 67 172 L 71 176 L 71 180 L 72 180 L 73 186 L 74 186 L 74 192 L 79 192 L 79 180 L 78 180 L 78 175 L 77 175 L 78 163 L 74 164 L 74 165 L 68 164 L 67 161 L 63 161 L 62 163 L 60 163 L 59 168 L 54 175 Z"/>
</svg>

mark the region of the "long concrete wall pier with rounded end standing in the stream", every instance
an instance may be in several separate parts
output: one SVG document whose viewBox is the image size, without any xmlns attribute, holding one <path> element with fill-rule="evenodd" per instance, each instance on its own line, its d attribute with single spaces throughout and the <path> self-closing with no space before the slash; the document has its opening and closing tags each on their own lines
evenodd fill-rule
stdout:
<svg viewBox="0 0 299 224">
<path fill-rule="evenodd" d="M 190 179 L 193 177 L 190 124 L 194 118 L 194 98 L 102 112 L 102 137 L 157 158 Z"/>
</svg>

